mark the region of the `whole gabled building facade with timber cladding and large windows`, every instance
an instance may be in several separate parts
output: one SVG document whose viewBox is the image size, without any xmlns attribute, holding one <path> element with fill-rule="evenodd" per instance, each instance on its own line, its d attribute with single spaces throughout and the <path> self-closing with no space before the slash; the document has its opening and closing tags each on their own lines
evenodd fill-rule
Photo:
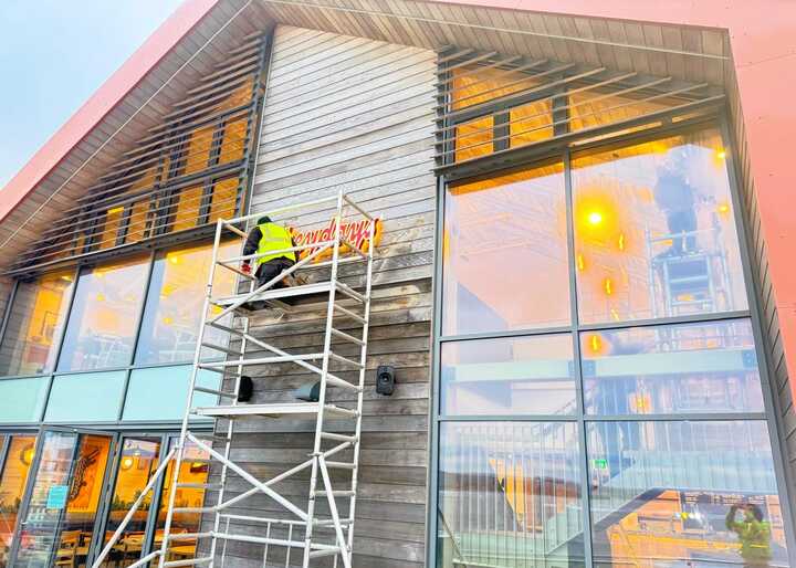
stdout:
<svg viewBox="0 0 796 568">
<path fill-rule="evenodd" d="M 174 448 L 216 221 L 341 189 L 383 227 L 355 566 L 796 562 L 796 346 L 775 301 L 796 292 L 774 282 L 732 27 L 517 8 L 187 2 L 2 190 L 0 566 L 91 566 Z M 250 325 L 313 353 L 323 319 Z M 263 367 L 252 401 L 308 378 Z M 272 477 L 314 425 L 240 421 L 233 457 Z M 213 498 L 218 471 L 190 457 L 196 487 L 159 481 L 103 566 L 160 546 L 171 491 Z M 277 508 L 252 495 L 233 524 L 261 535 L 242 517 Z M 217 565 L 264 554 L 229 543 Z"/>
</svg>

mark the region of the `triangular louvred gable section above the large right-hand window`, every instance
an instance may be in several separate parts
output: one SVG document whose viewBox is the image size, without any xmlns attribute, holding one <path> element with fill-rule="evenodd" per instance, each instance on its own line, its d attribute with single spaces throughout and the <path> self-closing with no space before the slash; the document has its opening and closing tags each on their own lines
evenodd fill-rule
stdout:
<svg viewBox="0 0 796 568">
<path fill-rule="evenodd" d="M 438 57 L 437 165 L 658 126 L 720 103 L 709 83 L 447 48 Z"/>
</svg>

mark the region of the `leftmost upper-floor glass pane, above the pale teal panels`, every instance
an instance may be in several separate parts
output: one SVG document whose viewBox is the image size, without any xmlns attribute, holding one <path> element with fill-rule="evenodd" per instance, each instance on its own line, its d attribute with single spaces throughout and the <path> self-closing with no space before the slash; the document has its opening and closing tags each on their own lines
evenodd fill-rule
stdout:
<svg viewBox="0 0 796 568">
<path fill-rule="evenodd" d="M 0 376 L 52 370 L 74 271 L 20 282 L 0 345 Z"/>
</svg>

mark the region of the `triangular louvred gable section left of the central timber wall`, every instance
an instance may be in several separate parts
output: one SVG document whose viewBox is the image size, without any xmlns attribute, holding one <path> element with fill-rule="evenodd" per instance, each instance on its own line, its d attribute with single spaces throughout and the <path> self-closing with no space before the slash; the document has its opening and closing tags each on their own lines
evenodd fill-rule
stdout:
<svg viewBox="0 0 796 568">
<path fill-rule="evenodd" d="M 10 272 L 147 245 L 240 214 L 269 38 L 263 32 L 242 38 L 160 124 L 62 211 Z"/>
</svg>

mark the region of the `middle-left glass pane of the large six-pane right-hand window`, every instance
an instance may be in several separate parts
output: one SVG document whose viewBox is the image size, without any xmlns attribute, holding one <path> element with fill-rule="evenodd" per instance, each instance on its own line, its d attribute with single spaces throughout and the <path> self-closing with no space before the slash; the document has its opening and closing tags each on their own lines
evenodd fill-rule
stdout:
<svg viewBox="0 0 796 568">
<path fill-rule="evenodd" d="M 442 414 L 572 414 L 570 335 L 442 344 Z"/>
</svg>

